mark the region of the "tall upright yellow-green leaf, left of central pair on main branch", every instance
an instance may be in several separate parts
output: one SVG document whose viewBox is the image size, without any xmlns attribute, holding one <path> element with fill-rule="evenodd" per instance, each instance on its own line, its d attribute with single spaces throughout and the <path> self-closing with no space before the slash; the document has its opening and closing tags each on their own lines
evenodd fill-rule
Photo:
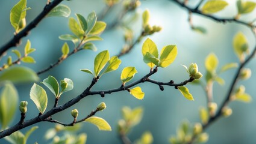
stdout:
<svg viewBox="0 0 256 144">
<path fill-rule="evenodd" d="M 105 65 L 108 62 L 108 59 L 110 59 L 110 54 L 109 54 L 108 50 L 104 50 L 96 56 L 96 58 L 94 60 L 95 77 L 97 77 L 99 75 L 99 73 L 101 72 L 102 68 L 105 67 Z"/>
</svg>

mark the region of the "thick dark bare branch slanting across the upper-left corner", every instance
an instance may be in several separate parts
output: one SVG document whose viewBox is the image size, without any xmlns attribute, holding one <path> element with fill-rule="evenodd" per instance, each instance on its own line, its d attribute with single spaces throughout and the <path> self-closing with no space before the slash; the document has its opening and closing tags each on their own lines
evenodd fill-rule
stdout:
<svg viewBox="0 0 256 144">
<path fill-rule="evenodd" d="M 8 41 L 8 43 L 4 44 L 4 46 L 1 46 L 0 48 L 0 55 L 2 55 L 4 52 L 6 52 L 8 49 L 14 46 L 19 46 L 20 40 L 23 37 L 26 37 L 31 29 L 35 28 L 39 22 L 52 10 L 52 8 L 56 7 L 60 2 L 63 0 L 55 0 L 51 2 L 49 5 L 45 5 L 45 8 L 43 8 L 43 11 L 32 21 L 30 24 L 28 24 L 22 31 L 20 31 L 18 34 L 14 35 L 14 37 Z"/>
</svg>

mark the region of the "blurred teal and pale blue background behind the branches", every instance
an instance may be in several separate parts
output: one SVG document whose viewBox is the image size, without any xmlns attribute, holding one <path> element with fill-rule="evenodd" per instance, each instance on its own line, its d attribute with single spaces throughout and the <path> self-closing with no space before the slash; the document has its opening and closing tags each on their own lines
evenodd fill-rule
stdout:
<svg viewBox="0 0 256 144">
<path fill-rule="evenodd" d="M 226 1 L 229 2 L 229 6 L 226 7 L 225 10 L 214 15 L 219 17 L 234 17 L 236 15 L 236 1 Z M 189 5 L 195 6 L 197 2 L 198 1 L 196 0 L 191 0 Z M 11 8 L 16 3 L 17 0 L 0 1 L 0 46 L 13 37 L 14 29 L 10 24 L 9 14 Z M 45 3 L 46 1 L 43 0 L 27 1 L 27 6 L 32 8 L 27 12 L 27 22 L 33 20 L 34 17 L 42 11 Z M 75 17 L 75 13 L 87 16 L 87 14 L 93 10 L 99 14 L 105 8 L 103 0 L 63 1 L 62 4 L 66 4 L 71 8 L 72 14 L 70 16 L 72 17 Z M 214 52 L 219 58 L 220 66 L 228 62 L 239 62 L 233 52 L 232 46 L 233 37 L 239 31 L 243 32 L 248 38 L 251 50 L 255 46 L 254 36 L 246 26 L 237 23 L 217 23 L 213 20 L 193 14 L 194 25 L 203 26 L 207 29 L 207 34 L 199 34 L 190 29 L 189 22 L 187 21 L 188 12 L 171 1 L 141 1 L 141 5 L 136 12 L 141 15 L 146 8 L 148 8 L 151 13 L 150 23 L 152 25 L 161 25 L 163 27 L 163 31 L 149 36 L 149 38 L 157 44 L 158 50 L 167 44 L 176 44 L 178 47 L 178 56 L 176 57 L 175 62 L 167 68 L 159 68 L 158 73 L 152 76 L 152 79 L 163 82 L 169 80 L 174 80 L 174 82 L 177 83 L 182 82 L 183 80 L 188 79 L 189 76 L 181 64 L 189 65 L 192 62 L 196 62 L 199 66 L 199 71 L 204 74 L 204 60 L 211 52 Z M 120 8 L 114 7 L 110 15 L 105 17 L 104 21 L 110 23 L 116 18 L 116 15 L 119 12 Z M 251 14 L 242 16 L 241 19 L 249 22 L 255 18 L 255 12 L 256 10 Z M 28 66 L 35 71 L 39 71 L 57 61 L 61 56 L 61 46 L 64 43 L 64 41 L 58 39 L 58 36 L 71 33 L 67 22 L 68 19 L 64 17 L 46 18 L 39 23 L 37 28 L 30 32 L 28 37 L 23 38 L 22 45 L 13 49 L 23 50 L 25 42 L 29 39 L 31 41 L 31 46 L 37 49 L 36 52 L 32 54 L 37 62 L 36 64 L 22 65 Z M 134 23 L 133 28 L 137 32 L 135 32 L 135 35 L 139 35 L 141 25 L 142 20 L 140 19 Z M 58 81 L 64 77 L 73 80 L 75 86 L 74 89 L 62 95 L 59 104 L 63 104 L 71 98 L 81 94 L 81 92 L 90 85 L 93 77 L 81 72 L 80 69 L 89 68 L 92 70 L 94 58 L 97 53 L 102 50 L 108 49 L 112 56 L 119 53 L 124 44 L 123 34 L 123 29 L 120 27 L 109 29 L 101 35 L 101 37 L 104 38 L 104 41 L 95 43 L 98 47 L 97 52 L 84 50 L 76 53 L 75 55 L 70 56 L 70 58 L 64 61 L 61 65 L 58 65 L 58 67 L 40 75 L 41 80 L 49 75 L 56 77 Z M 122 68 L 127 66 L 136 67 L 138 71 L 133 80 L 140 79 L 140 77 L 148 73 L 149 67 L 142 60 L 142 44 L 143 40 L 134 47 L 131 53 L 123 56 L 121 58 L 122 64 L 120 65 L 119 70 L 102 76 L 95 87 L 93 87 L 93 90 L 119 87 L 120 73 Z M 69 43 L 69 46 L 72 47 L 73 44 Z M 2 61 L 4 62 L 5 58 L 3 58 Z M 248 104 L 238 101 L 230 103 L 229 106 L 233 109 L 233 115 L 228 118 L 219 119 L 206 130 L 210 136 L 208 143 L 256 143 L 255 63 L 255 59 L 253 59 L 246 65 L 246 67 L 249 67 L 252 70 L 251 79 L 240 82 L 246 86 L 246 92 L 253 98 L 252 102 Z M 220 104 L 224 99 L 235 73 L 236 70 L 230 70 L 220 75 L 225 79 L 226 83 L 224 86 L 215 83 L 213 95 L 214 101 L 216 101 L 217 104 Z M 26 119 L 33 118 L 38 114 L 36 106 L 29 98 L 32 85 L 33 83 L 16 85 L 19 91 L 20 100 L 27 100 L 29 103 Z M 145 92 L 145 98 L 143 100 L 137 100 L 132 95 L 128 94 L 128 92 L 116 92 L 111 95 L 105 95 L 105 98 L 101 98 L 99 95 L 93 95 L 84 98 L 80 103 L 64 110 L 64 112 L 54 115 L 53 118 L 58 121 L 70 122 L 72 121 L 70 110 L 78 109 L 80 116 L 88 115 L 92 109 L 95 109 L 98 103 L 104 101 L 107 104 L 107 109 L 96 115 L 106 119 L 113 130 L 111 132 L 99 131 L 98 128 L 92 124 L 84 124 L 79 132 L 87 133 L 87 143 L 120 143 L 116 125 L 118 119 L 122 118 L 120 109 L 123 106 L 130 106 L 131 108 L 142 106 L 144 108 L 142 121 L 139 125 L 134 127 L 128 135 L 132 141 L 139 139 L 144 131 L 151 131 L 154 136 L 154 143 L 169 143 L 169 137 L 176 134 L 176 128 L 182 121 L 184 121 L 184 119 L 188 119 L 192 123 L 200 121 L 198 112 L 199 107 L 206 106 L 205 93 L 202 91 L 201 87 L 191 84 L 187 85 L 195 98 L 195 101 L 188 101 L 173 87 L 164 86 L 164 91 L 162 92 L 158 86 L 152 85 L 151 83 L 142 83 L 139 86 L 141 86 Z M 48 89 L 46 92 L 48 92 L 47 110 L 49 110 L 54 104 L 54 95 L 52 95 Z M 12 124 L 15 124 L 17 121 L 19 121 L 19 112 L 17 112 Z M 46 130 L 54 127 L 55 124 L 40 122 L 38 125 L 39 129 L 31 135 L 28 143 L 49 143 L 43 136 L 45 135 Z M 22 131 L 25 132 L 27 130 L 28 128 L 24 128 Z M 0 140 L 0 143 L 7 142 L 5 140 Z"/>
</svg>

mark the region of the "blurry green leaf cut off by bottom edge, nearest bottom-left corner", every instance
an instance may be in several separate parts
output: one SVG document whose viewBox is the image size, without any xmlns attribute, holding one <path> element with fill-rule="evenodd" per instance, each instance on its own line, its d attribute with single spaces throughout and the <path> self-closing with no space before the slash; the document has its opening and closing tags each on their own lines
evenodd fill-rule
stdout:
<svg viewBox="0 0 256 144">
<path fill-rule="evenodd" d="M 20 131 L 16 131 L 12 133 L 10 136 L 4 137 L 5 140 L 12 144 L 24 144 L 26 143 L 25 141 L 25 136 L 22 134 Z"/>
</svg>

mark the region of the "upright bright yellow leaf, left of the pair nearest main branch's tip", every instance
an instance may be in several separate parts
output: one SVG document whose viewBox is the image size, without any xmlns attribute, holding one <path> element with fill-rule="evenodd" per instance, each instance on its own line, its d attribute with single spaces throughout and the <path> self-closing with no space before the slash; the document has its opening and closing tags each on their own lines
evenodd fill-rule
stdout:
<svg viewBox="0 0 256 144">
<path fill-rule="evenodd" d="M 146 55 L 146 53 L 149 52 L 151 55 L 154 55 L 155 58 L 158 58 L 158 50 L 157 46 L 155 45 L 154 41 L 151 39 L 147 38 L 142 46 L 142 55 L 143 57 Z M 153 63 L 148 64 L 149 67 L 154 67 L 155 65 Z"/>
</svg>

